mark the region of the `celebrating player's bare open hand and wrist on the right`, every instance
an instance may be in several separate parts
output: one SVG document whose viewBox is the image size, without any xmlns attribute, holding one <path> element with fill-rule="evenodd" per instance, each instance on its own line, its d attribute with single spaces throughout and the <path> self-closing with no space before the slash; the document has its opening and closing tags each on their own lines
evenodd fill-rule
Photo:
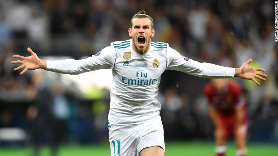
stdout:
<svg viewBox="0 0 278 156">
<path fill-rule="evenodd" d="M 254 81 L 257 85 L 260 85 L 260 83 L 256 81 L 255 78 L 265 81 L 267 75 L 257 72 L 257 71 L 264 71 L 264 69 L 249 66 L 251 62 L 252 59 L 250 58 L 247 62 L 243 63 L 243 65 L 240 68 L 235 68 L 235 77 L 249 79 Z"/>
</svg>

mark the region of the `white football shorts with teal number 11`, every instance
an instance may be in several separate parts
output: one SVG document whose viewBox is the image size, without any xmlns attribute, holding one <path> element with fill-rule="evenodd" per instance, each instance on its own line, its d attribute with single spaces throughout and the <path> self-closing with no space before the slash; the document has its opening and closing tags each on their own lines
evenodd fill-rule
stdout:
<svg viewBox="0 0 278 156">
<path fill-rule="evenodd" d="M 111 156 L 137 156 L 141 150 L 160 146 L 165 151 L 162 121 L 135 125 L 110 125 Z"/>
</svg>

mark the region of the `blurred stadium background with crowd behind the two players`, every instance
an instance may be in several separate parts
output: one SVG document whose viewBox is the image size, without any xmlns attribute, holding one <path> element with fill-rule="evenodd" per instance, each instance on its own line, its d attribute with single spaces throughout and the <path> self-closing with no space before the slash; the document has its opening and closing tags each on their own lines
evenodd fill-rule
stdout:
<svg viewBox="0 0 278 156">
<path fill-rule="evenodd" d="M 268 78 L 261 86 L 235 80 L 247 98 L 249 153 L 278 155 L 278 44 L 271 0 L 0 0 L 0 155 L 31 155 L 36 101 L 47 99 L 53 99 L 47 109 L 56 126 L 45 128 L 61 132 L 58 155 L 75 148 L 79 154 L 74 155 L 109 155 L 111 70 L 77 76 L 36 70 L 19 76 L 12 55 L 27 56 L 31 47 L 44 59 L 86 58 L 112 41 L 129 39 L 130 19 L 140 10 L 154 19 L 152 40 L 167 42 L 182 55 L 230 67 L 253 58 L 253 66 L 265 69 Z M 200 149 L 207 154 L 199 155 L 214 154 L 213 126 L 202 94 L 207 82 L 177 71 L 163 73 L 158 100 L 169 148 L 165 155 L 186 155 L 193 147 L 188 155 Z M 46 86 L 51 97 L 37 99 L 38 85 Z M 49 144 L 48 135 L 40 136 L 43 145 Z"/>
</svg>

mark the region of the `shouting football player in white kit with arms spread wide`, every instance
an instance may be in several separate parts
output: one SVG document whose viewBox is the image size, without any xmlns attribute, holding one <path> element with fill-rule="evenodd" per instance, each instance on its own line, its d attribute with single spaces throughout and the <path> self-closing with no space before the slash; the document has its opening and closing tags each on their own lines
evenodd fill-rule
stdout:
<svg viewBox="0 0 278 156">
<path fill-rule="evenodd" d="M 111 69 L 113 83 L 108 115 L 111 155 L 163 156 L 165 151 L 163 126 L 156 99 L 161 74 L 165 70 L 177 70 L 206 78 L 265 80 L 261 68 L 249 66 L 252 59 L 240 68 L 228 68 L 210 63 L 199 63 L 180 55 L 167 43 L 151 41 L 155 35 L 153 19 L 140 11 L 133 16 L 128 34 L 131 39 L 115 41 L 95 55 L 83 60 L 49 61 L 38 58 L 30 48 L 31 56 L 14 55 L 22 64 L 14 70 L 42 68 L 64 74 Z"/>
</svg>

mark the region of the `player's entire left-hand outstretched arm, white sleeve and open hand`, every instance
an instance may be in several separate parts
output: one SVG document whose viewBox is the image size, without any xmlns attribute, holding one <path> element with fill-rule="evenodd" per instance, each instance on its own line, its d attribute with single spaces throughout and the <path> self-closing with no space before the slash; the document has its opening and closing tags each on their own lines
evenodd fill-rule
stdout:
<svg viewBox="0 0 278 156">
<path fill-rule="evenodd" d="M 19 70 L 25 67 L 20 75 L 24 74 L 29 69 L 34 70 L 38 68 L 63 74 L 80 74 L 98 69 L 113 69 L 116 60 L 116 52 L 112 46 L 103 48 L 98 55 L 92 55 L 82 60 L 66 59 L 46 61 L 39 59 L 31 48 L 28 48 L 27 50 L 31 56 L 13 56 L 14 58 L 19 58 L 21 60 L 12 61 L 12 64 L 22 64 L 21 66 L 14 68 L 14 70 Z"/>
</svg>

